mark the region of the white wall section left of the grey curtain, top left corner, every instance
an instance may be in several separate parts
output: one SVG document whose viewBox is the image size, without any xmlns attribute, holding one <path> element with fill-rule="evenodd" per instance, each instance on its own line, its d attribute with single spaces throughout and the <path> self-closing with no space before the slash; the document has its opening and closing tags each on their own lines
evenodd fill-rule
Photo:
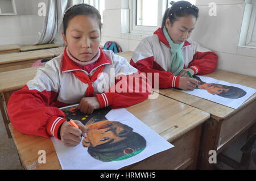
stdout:
<svg viewBox="0 0 256 181">
<path fill-rule="evenodd" d="M 38 15 L 38 3 L 46 0 L 18 0 L 17 15 L 0 15 L 0 45 L 31 45 L 39 39 L 43 16 Z"/>
</svg>

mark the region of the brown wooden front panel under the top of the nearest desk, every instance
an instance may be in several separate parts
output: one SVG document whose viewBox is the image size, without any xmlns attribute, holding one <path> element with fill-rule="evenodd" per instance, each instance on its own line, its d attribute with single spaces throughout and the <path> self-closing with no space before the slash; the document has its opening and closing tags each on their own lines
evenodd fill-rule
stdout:
<svg viewBox="0 0 256 181">
<path fill-rule="evenodd" d="M 201 125 L 173 141 L 174 148 L 155 154 L 123 169 L 196 169 Z"/>
</svg>

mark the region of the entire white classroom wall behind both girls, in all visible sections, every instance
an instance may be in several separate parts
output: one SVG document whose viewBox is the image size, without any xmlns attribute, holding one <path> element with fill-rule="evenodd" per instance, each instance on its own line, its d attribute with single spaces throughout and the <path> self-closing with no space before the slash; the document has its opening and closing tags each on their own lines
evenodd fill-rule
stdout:
<svg viewBox="0 0 256 181">
<path fill-rule="evenodd" d="M 38 40 L 43 16 L 38 16 L 38 2 L 16 1 L 18 15 L 0 16 L 0 44 L 31 45 Z M 217 16 L 209 16 L 210 2 L 217 4 Z M 26 6 L 24 6 L 26 5 Z M 219 56 L 218 69 L 256 77 L 256 49 L 238 48 L 243 0 L 197 0 L 200 9 L 192 39 Z M 146 35 L 129 33 L 129 0 L 105 0 L 101 45 L 116 41 L 123 51 L 134 50 Z M 58 38 L 61 41 L 61 36 Z"/>
</svg>

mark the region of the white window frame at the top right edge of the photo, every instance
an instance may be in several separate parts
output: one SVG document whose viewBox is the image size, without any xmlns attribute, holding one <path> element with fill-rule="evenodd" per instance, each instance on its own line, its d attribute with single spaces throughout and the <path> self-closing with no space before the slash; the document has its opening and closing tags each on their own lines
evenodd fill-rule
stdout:
<svg viewBox="0 0 256 181">
<path fill-rule="evenodd" d="M 239 47 L 255 48 L 256 41 L 252 40 L 256 31 L 256 0 L 245 0 L 245 12 L 240 33 Z"/>
</svg>

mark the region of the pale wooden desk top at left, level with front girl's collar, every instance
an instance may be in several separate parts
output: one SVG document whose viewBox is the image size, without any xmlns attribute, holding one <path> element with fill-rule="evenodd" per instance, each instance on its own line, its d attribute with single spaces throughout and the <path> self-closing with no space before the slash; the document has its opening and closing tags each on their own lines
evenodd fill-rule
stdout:
<svg viewBox="0 0 256 181">
<path fill-rule="evenodd" d="M 30 52 L 19 52 L 11 54 L 0 54 L 0 64 L 10 64 L 26 60 L 39 60 L 54 57 L 54 54 L 47 50 L 35 50 Z"/>
</svg>

